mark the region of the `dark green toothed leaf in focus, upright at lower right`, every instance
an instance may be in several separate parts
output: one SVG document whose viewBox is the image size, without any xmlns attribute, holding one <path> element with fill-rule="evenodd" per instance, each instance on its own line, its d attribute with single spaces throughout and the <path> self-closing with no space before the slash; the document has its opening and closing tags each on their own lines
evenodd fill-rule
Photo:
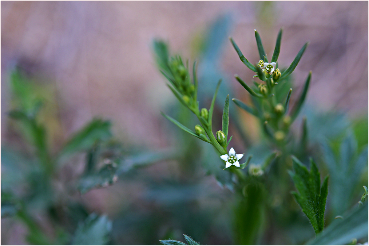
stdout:
<svg viewBox="0 0 369 246">
<path fill-rule="evenodd" d="M 289 174 L 298 191 L 291 193 L 300 205 L 304 214 L 310 220 L 315 233 L 323 231 L 325 201 L 328 194 L 328 176 L 325 177 L 323 185 L 320 186 L 320 173 L 317 165 L 310 158 L 310 172 L 296 157 L 292 156 L 294 173 Z"/>
</svg>

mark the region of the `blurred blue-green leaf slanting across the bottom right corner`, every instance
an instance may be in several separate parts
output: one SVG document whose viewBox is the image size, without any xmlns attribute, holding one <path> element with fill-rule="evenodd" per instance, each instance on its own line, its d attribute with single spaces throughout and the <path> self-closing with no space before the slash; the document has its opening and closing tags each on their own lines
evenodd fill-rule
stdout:
<svg viewBox="0 0 369 246">
<path fill-rule="evenodd" d="M 368 240 L 368 203 L 355 206 L 344 219 L 335 219 L 307 245 L 345 245 L 353 238 Z"/>
</svg>

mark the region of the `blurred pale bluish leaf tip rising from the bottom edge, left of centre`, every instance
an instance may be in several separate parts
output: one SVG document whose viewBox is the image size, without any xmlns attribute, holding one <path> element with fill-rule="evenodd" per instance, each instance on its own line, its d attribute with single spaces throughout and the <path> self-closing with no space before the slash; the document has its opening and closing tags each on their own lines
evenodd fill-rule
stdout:
<svg viewBox="0 0 369 246">
<path fill-rule="evenodd" d="M 90 214 L 76 229 L 72 245 L 106 245 L 109 242 L 111 221 L 107 216 Z"/>
</svg>

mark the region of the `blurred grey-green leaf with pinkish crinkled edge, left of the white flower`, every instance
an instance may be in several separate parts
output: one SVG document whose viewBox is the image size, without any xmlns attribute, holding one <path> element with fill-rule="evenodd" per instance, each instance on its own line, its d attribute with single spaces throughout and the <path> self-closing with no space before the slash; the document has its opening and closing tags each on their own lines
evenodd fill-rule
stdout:
<svg viewBox="0 0 369 246">
<path fill-rule="evenodd" d="M 116 171 L 116 165 L 107 164 L 98 173 L 87 173 L 79 180 L 79 191 L 85 194 L 91 189 L 114 184 L 118 179 L 118 176 L 115 174 Z"/>
</svg>

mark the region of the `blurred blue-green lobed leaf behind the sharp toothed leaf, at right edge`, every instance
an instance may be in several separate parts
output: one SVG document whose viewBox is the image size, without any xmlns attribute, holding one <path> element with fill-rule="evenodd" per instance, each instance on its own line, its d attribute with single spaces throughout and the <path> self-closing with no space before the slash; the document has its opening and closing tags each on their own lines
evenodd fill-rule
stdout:
<svg viewBox="0 0 369 246">
<path fill-rule="evenodd" d="M 368 165 L 368 147 L 358 155 L 357 142 L 351 134 L 342 141 L 339 156 L 327 143 L 323 143 L 323 151 L 331 177 L 331 205 L 334 215 L 341 215 L 351 206 L 355 190 L 360 186 L 361 172 Z"/>
</svg>

